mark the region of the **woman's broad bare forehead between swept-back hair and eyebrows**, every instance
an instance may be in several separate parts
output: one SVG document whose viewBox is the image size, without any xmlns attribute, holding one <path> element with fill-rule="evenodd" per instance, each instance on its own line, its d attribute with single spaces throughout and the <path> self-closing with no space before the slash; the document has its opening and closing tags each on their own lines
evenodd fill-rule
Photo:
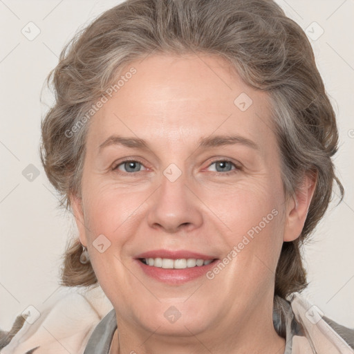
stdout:
<svg viewBox="0 0 354 354">
<path fill-rule="evenodd" d="M 171 148 L 213 133 L 274 142 L 268 95 L 245 84 L 220 57 L 153 55 L 131 62 L 118 80 L 91 122 L 88 140 L 95 146 L 112 133 Z"/>
</svg>

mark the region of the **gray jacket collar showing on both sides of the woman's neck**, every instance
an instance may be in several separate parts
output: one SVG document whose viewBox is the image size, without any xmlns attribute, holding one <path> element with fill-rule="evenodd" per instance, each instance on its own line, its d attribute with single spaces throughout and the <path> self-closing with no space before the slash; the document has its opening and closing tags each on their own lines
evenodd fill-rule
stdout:
<svg viewBox="0 0 354 354">
<path fill-rule="evenodd" d="M 279 335 L 286 338 L 286 348 L 284 354 L 292 352 L 292 337 L 301 333 L 299 324 L 295 321 L 294 314 L 290 303 L 280 297 L 277 297 L 274 302 L 273 310 L 274 328 Z M 88 339 L 84 354 L 109 354 L 111 342 L 117 322 L 115 318 L 115 310 L 109 311 L 102 318 L 99 324 L 93 330 L 91 337 Z"/>
</svg>

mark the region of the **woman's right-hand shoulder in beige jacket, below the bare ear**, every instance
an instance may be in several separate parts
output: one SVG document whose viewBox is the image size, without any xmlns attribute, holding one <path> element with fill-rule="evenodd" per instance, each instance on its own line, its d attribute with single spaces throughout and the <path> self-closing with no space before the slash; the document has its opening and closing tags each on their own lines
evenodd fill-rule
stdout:
<svg viewBox="0 0 354 354">
<path fill-rule="evenodd" d="M 299 330 L 292 338 L 292 353 L 354 353 L 354 329 L 324 316 L 298 292 L 288 297 Z M 306 348 L 307 351 L 304 351 Z"/>
</svg>

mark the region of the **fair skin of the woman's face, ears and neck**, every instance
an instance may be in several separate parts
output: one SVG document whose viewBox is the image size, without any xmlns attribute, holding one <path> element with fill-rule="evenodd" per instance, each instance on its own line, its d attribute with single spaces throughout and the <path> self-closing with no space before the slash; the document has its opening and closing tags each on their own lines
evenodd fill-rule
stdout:
<svg viewBox="0 0 354 354">
<path fill-rule="evenodd" d="M 131 66 L 137 73 L 91 118 L 82 194 L 71 195 L 80 241 L 115 309 L 111 353 L 283 353 L 272 324 L 274 272 L 283 241 L 301 233 L 315 180 L 305 176 L 286 198 L 268 95 L 223 59 L 151 55 L 122 72 Z M 253 101 L 246 111 L 234 104 L 241 93 Z M 100 151 L 114 134 L 142 138 L 149 149 Z M 232 134 L 258 149 L 198 148 L 200 138 Z M 131 172 L 127 158 L 142 165 Z M 223 160 L 241 169 L 217 169 Z M 174 182 L 163 174 L 171 163 L 182 171 Z M 212 280 L 162 283 L 134 260 L 160 248 L 223 259 L 272 209 L 277 216 Z M 111 242 L 102 253 L 93 247 L 100 234 Z M 181 314 L 174 323 L 164 316 L 170 306 Z"/>
</svg>

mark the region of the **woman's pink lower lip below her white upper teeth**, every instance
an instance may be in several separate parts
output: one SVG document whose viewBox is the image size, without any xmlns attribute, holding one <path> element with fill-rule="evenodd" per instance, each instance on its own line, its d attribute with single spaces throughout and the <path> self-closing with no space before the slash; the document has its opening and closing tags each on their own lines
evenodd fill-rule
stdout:
<svg viewBox="0 0 354 354">
<path fill-rule="evenodd" d="M 181 284 L 205 275 L 208 270 L 211 270 L 215 267 L 218 259 L 215 259 L 212 261 L 212 263 L 207 265 L 197 265 L 196 267 L 185 269 L 158 268 L 142 263 L 142 261 L 139 259 L 136 259 L 136 261 L 140 265 L 142 271 L 145 272 L 145 274 L 147 274 L 149 277 L 157 279 L 158 281 L 162 281 L 163 283 Z"/>
</svg>

